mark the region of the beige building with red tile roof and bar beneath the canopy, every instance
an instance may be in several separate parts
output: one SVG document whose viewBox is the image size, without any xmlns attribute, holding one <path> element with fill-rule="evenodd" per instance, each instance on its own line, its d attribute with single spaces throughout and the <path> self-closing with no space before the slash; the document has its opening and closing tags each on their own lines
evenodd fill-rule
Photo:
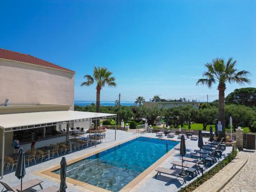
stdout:
<svg viewBox="0 0 256 192">
<path fill-rule="evenodd" d="M 74 71 L 6 49 L 0 49 L 0 71 L 0 114 L 74 110 Z M 9 99 L 10 105 L 2 106 L 6 99 Z M 89 122 L 70 126 L 88 128 Z M 36 147 L 66 141 L 67 133 L 61 131 L 63 128 L 66 125 L 34 129 L 38 136 Z M 14 137 L 21 139 L 21 146 L 25 150 L 30 148 L 32 132 L 22 130 L 6 133 L 5 155 L 13 153 Z"/>
</svg>

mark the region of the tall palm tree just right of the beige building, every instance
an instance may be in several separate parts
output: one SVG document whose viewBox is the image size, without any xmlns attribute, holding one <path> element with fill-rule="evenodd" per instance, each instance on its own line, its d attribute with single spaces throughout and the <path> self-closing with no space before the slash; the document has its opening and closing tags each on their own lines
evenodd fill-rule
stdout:
<svg viewBox="0 0 256 192">
<path fill-rule="evenodd" d="M 93 77 L 91 75 L 84 75 L 86 82 L 81 83 L 82 86 L 91 86 L 96 83 L 96 113 L 100 112 L 100 90 L 104 86 L 116 87 L 115 77 L 111 77 L 112 72 L 104 67 L 95 67 Z M 99 124 L 98 124 L 99 125 Z"/>
</svg>

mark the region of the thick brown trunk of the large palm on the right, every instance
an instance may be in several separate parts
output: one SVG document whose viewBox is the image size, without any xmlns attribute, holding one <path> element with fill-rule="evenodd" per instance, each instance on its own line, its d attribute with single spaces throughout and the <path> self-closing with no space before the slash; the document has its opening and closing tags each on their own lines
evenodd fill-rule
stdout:
<svg viewBox="0 0 256 192">
<path fill-rule="evenodd" d="M 218 139 L 225 137 L 225 83 L 220 83 L 218 86 L 219 90 L 219 121 L 221 121 L 222 124 L 222 131 L 218 131 Z"/>
</svg>

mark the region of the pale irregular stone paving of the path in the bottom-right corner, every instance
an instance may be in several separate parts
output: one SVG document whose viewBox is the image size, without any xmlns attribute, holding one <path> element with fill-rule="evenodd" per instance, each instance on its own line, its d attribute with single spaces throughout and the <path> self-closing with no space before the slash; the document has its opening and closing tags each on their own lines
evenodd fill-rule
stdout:
<svg viewBox="0 0 256 192">
<path fill-rule="evenodd" d="M 221 192 L 256 191 L 256 152 L 240 152 L 248 156 L 248 161 L 240 172 L 221 190 Z"/>
</svg>

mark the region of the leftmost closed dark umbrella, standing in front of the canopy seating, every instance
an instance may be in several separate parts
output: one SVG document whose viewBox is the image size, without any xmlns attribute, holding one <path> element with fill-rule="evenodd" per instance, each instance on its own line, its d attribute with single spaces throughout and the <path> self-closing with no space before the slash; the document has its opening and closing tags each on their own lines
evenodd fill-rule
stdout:
<svg viewBox="0 0 256 192">
<path fill-rule="evenodd" d="M 23 148 L 20 148 L 18 151 L 18 160 L 16 166 L 15 176 L 20 180 L 20 191 L 22 191 L 22 179 L 26 175 L 26 168 L 25 168 L 25 152 Z"/>
</svg>

